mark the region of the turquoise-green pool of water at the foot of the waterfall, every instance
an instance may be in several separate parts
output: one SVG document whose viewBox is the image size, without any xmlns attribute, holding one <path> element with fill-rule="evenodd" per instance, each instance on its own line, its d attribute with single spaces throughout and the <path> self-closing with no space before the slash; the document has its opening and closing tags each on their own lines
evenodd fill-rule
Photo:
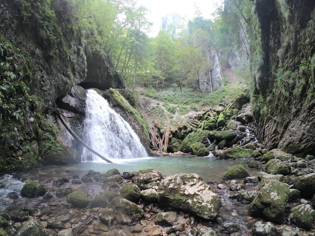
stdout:
<svg viewBox="0 0 315 236">
<path fill-rule="evenodd" d="M 68 175 L 86 174 L 90 169 L 106 173 L 107 170 L 117 168 L 123 172 L 138 172 L 140 169 L 155 169 L 168 176 L 172 174 L 196 173 L 204 181 L 221 181 L 224 173 L 233 165 L 242 164 L 244 160 L 217 160 L 215 157 L 197 156 L 164 156 L 144 157 L 135 159 L 111 159 L 114 163 L 103 161 L 81 162 L 67 166 L 44 166 L 28 172 L 15 173 L 18 178 L 33 180 L 58 179 Z"/>
</svg>

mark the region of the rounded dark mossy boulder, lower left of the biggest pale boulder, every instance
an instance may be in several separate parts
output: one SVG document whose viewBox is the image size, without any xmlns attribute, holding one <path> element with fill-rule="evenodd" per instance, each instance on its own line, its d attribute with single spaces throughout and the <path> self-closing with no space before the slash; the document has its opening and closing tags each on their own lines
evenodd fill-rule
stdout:
<svg viewBox="0 0 315 236">
<path fill-rule="evenodd" d="M 114 210 L 116 220 L 123 224 L 136 223 L 144 217 L 140 207 L 123 197 L 113 198 L 110 205 Z"/>
</svg>

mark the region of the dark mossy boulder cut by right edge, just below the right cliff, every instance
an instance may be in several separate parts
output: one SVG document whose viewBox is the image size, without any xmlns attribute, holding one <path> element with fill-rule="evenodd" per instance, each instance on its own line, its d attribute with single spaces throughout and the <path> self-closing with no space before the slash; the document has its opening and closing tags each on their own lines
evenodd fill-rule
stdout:
<svg viewBox="0 0 315 236">
<path fill-rule="evenodd" d="M 315 173 L 298 176 L 293 179 L 294 188 L 301 192 L 301 195 L 312 198 L 315 193 Z"/>
</svg>

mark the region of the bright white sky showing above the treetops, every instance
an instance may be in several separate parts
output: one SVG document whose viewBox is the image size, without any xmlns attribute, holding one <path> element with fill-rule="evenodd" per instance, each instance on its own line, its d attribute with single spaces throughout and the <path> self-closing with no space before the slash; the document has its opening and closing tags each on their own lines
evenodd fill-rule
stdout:
<svg viewBox="0 0 315 236">
<path fill-rule="evenodd" d="M 165 15 L 179 13 L 186 15 L 192 19 L 195 15 L 194 3 L 197 3 L 201 16 L 206 19 L 211 19 L 211 13 L 216 9 L 215 3 L 221 2 L 219 0 L 138 0 L 139 4 L 144 5 L 151 10 L 147 15 L 147 19 L 152 22 L 152 32 L 148 35 L 150 37 L 157 36 L 160 28 L 161 18 Z"/>
</svg>

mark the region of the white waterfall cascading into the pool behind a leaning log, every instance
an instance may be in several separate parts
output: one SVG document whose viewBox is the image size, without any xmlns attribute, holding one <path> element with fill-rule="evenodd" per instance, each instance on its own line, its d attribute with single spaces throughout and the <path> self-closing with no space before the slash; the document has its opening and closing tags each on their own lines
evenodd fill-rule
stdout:
<svg viewBox="0 0 315 236">
<path fill-rule="evenodd" d="M 84 121 L 84 141 L 108 159 L 148 156 L 135 131 L 108 102 L 94 90 L 88 90 Z M 102 161 L 86 148 L 82 161 Z"/>
</svg>

